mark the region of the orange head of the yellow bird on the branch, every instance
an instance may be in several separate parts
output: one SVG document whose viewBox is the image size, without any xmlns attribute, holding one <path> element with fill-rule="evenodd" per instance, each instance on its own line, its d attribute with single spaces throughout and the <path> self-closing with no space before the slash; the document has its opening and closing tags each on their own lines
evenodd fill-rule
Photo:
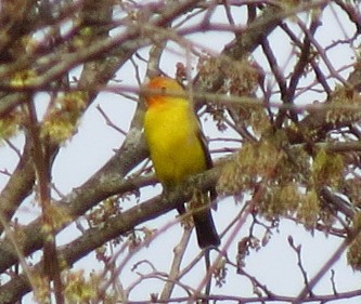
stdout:
<svg viewBox="0 0 361 304">
<path fill-rule="evenodd" d="M 179 95 L 184 94 L 182 85 L 177 80 L 163 76 L 151 79 L 145 88 L 149 90 L 145 94 L 149 106 L 164 104 L 169 97 L 181 97 Z"/>
</svg>

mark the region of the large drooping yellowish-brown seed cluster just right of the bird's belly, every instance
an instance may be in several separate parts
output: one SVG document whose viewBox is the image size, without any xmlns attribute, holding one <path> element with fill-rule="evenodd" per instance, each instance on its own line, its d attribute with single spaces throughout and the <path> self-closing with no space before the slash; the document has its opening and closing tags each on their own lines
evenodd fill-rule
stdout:
<svg viewBox="0 0 361 304">
<path fill-rule="evenodd" d="M 324 149 L 312 163 L 304 148 L 288 148 L 280 131 L 258 143 L 244 144 L 236 160 L 224 167 L 218 187 L 228 194 L 245 193 L 265 182 L 265 195 L 258 203 L 260 213 L 270 220 L 296 216 L 311 229 L 322 211 L 317 188 L 337 186 L 343 166 L 339 155 Z"/>
</svg>

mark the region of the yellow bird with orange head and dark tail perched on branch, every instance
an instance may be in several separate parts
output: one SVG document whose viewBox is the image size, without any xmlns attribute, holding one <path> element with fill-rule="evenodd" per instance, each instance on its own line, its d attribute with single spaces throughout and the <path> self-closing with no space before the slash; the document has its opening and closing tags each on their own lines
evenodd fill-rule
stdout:
<svg viewBox="0 0 361 304">
<path fill-rule="evenodd" d="M 169 190 L 190 175 L 212 167 L 199 121 L 183 88 L 171 78 L 155 77 L 146 84 L 147 110 L 144 134 L 155 173 L 164 188 Z M 216 194 L 210 191 L 210 197 Z M 191 210 L 201 248 L 218 246 L 217 234 L 207 194 L 198 196 Z M 179 211 L 184 211 L 180 208 Z"/>
</svg>

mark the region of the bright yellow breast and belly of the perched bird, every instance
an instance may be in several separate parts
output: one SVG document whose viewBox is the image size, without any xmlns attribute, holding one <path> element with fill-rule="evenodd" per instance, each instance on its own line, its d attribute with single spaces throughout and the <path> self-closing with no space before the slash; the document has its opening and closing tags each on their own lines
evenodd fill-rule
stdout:
<svg viewBox="0 0 361 304">
<path fill-rule="evenodd" d="M 176 185 L 207 169 L 198 123 L 188 103 L 150 108 L 144 117 L 144 133 L 163 185 Z"/>
</svg>

